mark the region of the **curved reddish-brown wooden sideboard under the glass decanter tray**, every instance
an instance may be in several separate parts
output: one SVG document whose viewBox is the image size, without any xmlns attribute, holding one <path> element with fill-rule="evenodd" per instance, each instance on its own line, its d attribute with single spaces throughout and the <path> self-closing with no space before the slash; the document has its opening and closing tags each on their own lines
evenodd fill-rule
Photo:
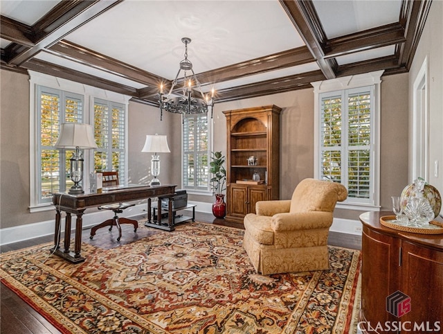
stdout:
<svg viewBox="0 0 443 334">
<path fill-rule="evenodd" d="M 363 333 L 443 333 L 443 234 L 390 229 L 380 224 L 380 217 L 388 215 L 392 213 L 360 216 L 359 327 Z M 386 304 L 387 297 L 397 291 L 410 298 L 399 317 L 394 315 L 397 312 L 389 313 Z"/>
</svg>

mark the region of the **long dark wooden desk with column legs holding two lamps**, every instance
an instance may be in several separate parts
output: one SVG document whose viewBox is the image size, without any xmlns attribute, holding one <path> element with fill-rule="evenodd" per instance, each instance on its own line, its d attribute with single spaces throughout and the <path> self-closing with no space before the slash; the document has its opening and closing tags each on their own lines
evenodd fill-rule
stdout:
<svg viewBox="0 0 443 334">
<path fill-rule="evenodd" d="M 168 197 L 174 195 L 176 185 L 166 184 L 162 186 L 127 186 L 116 187 L 113 190 L 103 191 L 102 193 L 84 193 L 80 195 L 71 195 L 69 193 L 53 193 L 53 204 L 55 206 L 55 234 L 54 247 L 51 252 L 66 258 L 72 263 L 84 261 L 80 255 L 82 247 L 82 216 L 86 209 L 97 207 L 103 204 L 112 204 L 127 202 L 131 200 L 143 200 L 147 198 L 148 220 L 151 220 L 151 197 Z M 170 215 L 168 225 L 172 224 L 172 201 L 170 201 Z M 64 250 L 60 249 L 60 220 L 61 211 L 66 213 L 64 227 Z M 74 252 L 71 252 L 71 213 L 77 216 L 75 220 L 75 243 Z"/>
</svg>

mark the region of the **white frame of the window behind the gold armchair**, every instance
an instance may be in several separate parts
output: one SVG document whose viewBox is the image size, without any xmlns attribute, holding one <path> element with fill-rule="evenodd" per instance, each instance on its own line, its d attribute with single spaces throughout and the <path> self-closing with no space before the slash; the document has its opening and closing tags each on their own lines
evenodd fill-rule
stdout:
<svg viewBox="0 0 443 334">
<path fill-rule="evenodd" d="M 314 87 L 314 177 L 320 178 L 321 168 L 321 96 L 334 92 L 341 95 L 343 91 L 358 89 L 360 87 L 372 87 L 372 110 L 371 110 L 371 190 L 370 200 L 359 201 L 358 198 L 347 198 L 344 202 L 336 204 L 339 209 L 351 209 L 359 211 L 378 211 L 380 209 L 380 85 L 383 71 L 347 76 L 331 80 L 311 82 Z M 346 181 L 347 182 L 347 181 Z M 346 185 L 346 184 L 345 184 Z"/>
</svg>

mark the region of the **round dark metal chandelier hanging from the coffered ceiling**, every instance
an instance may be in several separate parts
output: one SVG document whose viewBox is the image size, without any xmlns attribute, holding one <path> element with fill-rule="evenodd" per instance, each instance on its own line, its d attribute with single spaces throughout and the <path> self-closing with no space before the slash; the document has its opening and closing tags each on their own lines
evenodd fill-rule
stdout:
<svg viewBox="0 0 443 334">
<path fill-rule="evenodd" d="M 203 94 L 201 91 L 201 86 L 197 76 L 195 76 L 194 70 L 192 69 L 192 62 L 188 60 L 188 44 L 191 42 L 189 37 L 183 37 L 181 42 L 185 44 L 185 59 L 180 62 L 180 69 L 175 76 L 174 81 L 172 81 L 172 86 L 168 92 L 168 95 L 163 94 L 163 84 L 160 86 L 160 120 L 163 118 L 163 110 L 167 112 L 174 112 L 176 114 L 204 114 L 210 110 L 211 118 L 213 117 L 214 108 L 214 89 L 211 91 L 211 95 Z M 183 89 L 181 96 L 171 96 L 174 87 L 177 85 L 177 78 L 179 78 L 180 71 L 183 70 Z M 192 73 L 192 76 L 188 76 L 187 71 Z M 194 80 L 195 85 L 197 85 L 198 92 L 201 98 L 192 96 L 192 80 Z M 175 94 L 175 92 L 174 92 Z"/>
</svg>

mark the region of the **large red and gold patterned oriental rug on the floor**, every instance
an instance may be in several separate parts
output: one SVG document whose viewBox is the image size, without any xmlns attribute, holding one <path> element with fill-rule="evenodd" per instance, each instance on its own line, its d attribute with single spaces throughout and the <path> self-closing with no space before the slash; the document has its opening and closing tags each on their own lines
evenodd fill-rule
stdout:
<svg viewBox="0 0 443 334">
<path fill-rule="evenodd" d="M 240 229 L 150 230 L 111 249 L 83 243 L 76 265 L 49 256 L 49 243 L 1 254 L 1 282 L 62 333 L 356 331 L 357 250 L 329 247 L 329 270 L 262 276 Z"/>
</svg>

